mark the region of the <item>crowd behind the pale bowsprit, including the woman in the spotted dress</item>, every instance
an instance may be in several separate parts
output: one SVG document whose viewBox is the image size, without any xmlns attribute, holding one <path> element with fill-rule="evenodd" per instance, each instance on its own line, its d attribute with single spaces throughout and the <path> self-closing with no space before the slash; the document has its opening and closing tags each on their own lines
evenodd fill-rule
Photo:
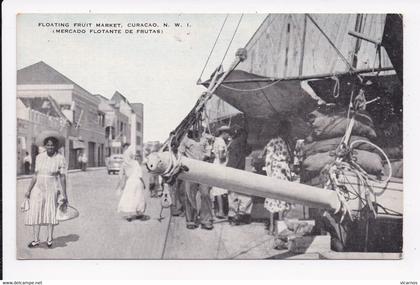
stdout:
<svg viewBox="0 0 420 285">
<path fill-rule="evenodd" d="M 267 143 L 260 158 L 264 160 L 265 175 L 293 181 L 296 172 L 293 165 L 299 165 L 299 162 L 293 161 L 293 152 L 285 138 L 288 130 L 287 124 L 280 124 L 278 133 Z M 236 125 L 218 128 L 214 138 L 190 130 L 178 148 L 179 155 L 242 170 L 250 153 L 247 132 Z M 298 157 L 296 153 L 294 156 Z M 188 229 L 201 225 L 201 228 L 211 230 L 215 219 L 227 219 L 231 225 L 251 222 L 251 196 L 182 180 L 172 187 L 172 194 L 172 215 L 185 215 Z M 293 205 L 267 198 L 264 208 L 270 213 L 269 232 L 274 234 L 276 220 L 284 219 Z"/>
</svg>

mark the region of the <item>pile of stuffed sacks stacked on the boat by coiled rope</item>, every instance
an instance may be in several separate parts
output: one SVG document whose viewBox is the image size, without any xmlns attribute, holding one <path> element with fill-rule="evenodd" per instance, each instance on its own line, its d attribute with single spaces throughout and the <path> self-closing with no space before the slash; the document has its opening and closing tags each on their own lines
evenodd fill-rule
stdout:
<svg viewBox="0 0 420 285">
<path fill-rule="evenodd" d="M 344 111 L 323 113 L 314 111 L 310 114 L 312 134 L 306 138 L 303 149 L 301 182 L 319 186 L 322 183 L 322 169 L 335 160 L 334 151 L 340 144 L 350 119 Z M 376 139 L 371 117 L 367 113 L 358 114 L 352 129 L 349 144 L 356 140 L 371 141 Z M 354 145 L 353 155 L 356 162 L 369 174 L 381 176 L 384 167 L 381 156 L 375 147 L 366 143 Z"/>
</svg>

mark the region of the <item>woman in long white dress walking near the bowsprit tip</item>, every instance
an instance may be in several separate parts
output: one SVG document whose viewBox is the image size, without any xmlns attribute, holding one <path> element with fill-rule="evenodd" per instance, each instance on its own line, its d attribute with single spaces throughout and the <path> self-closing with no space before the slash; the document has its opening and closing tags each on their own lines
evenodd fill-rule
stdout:
<svg viewBox="0 0 420 285">
<path fill-rule="evenodd" d="M 135 160 L 134 148 L 130 146 L 125 150 L 124 162 L 120 170 L 120 181 L 117 190 L 122 194 L 118 204 L 118 212 L 131 222 L 141 219 L 146 211 L 146 185 L 140 164 Z"/>
</svg>

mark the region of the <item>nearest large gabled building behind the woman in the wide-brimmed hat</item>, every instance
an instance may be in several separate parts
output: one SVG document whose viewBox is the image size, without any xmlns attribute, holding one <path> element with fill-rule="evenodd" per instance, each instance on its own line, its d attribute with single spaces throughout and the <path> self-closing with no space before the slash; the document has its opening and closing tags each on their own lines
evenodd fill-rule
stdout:
<svg viewBox="0 0 420 285">
<path fill-rule="evenodd" d="M 57 104 L 71 124 L 64 150 L 69 169 L 79 167 L 82 152 L 89 167 L 105 165 L 105 113 L 99 110 L 96 96 L 41 61 L 18 70 L 17 97 L 52 98 Z"/>
</svg>

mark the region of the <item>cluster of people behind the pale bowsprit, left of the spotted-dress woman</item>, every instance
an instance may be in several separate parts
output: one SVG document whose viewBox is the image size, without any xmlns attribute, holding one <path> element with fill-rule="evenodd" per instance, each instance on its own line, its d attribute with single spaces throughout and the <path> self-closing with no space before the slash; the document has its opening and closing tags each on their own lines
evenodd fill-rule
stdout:
<svg viewBox="0 0 420 285">
<path fill-rule="evenodd" d="M 190 130 L 178 147 L 178 155 L 238 169 L 245 169 L 247 153 L 246 132 L 238 126 L 221 126 L 215 137 Z M 171 190 L 171 213 L 185 215 L 188 229 L 212 230 L 215 219 L 228 219 L 233 225 L 251 221 L 249 196 L 183 180 L 177 180 Z"/>
</svg>

